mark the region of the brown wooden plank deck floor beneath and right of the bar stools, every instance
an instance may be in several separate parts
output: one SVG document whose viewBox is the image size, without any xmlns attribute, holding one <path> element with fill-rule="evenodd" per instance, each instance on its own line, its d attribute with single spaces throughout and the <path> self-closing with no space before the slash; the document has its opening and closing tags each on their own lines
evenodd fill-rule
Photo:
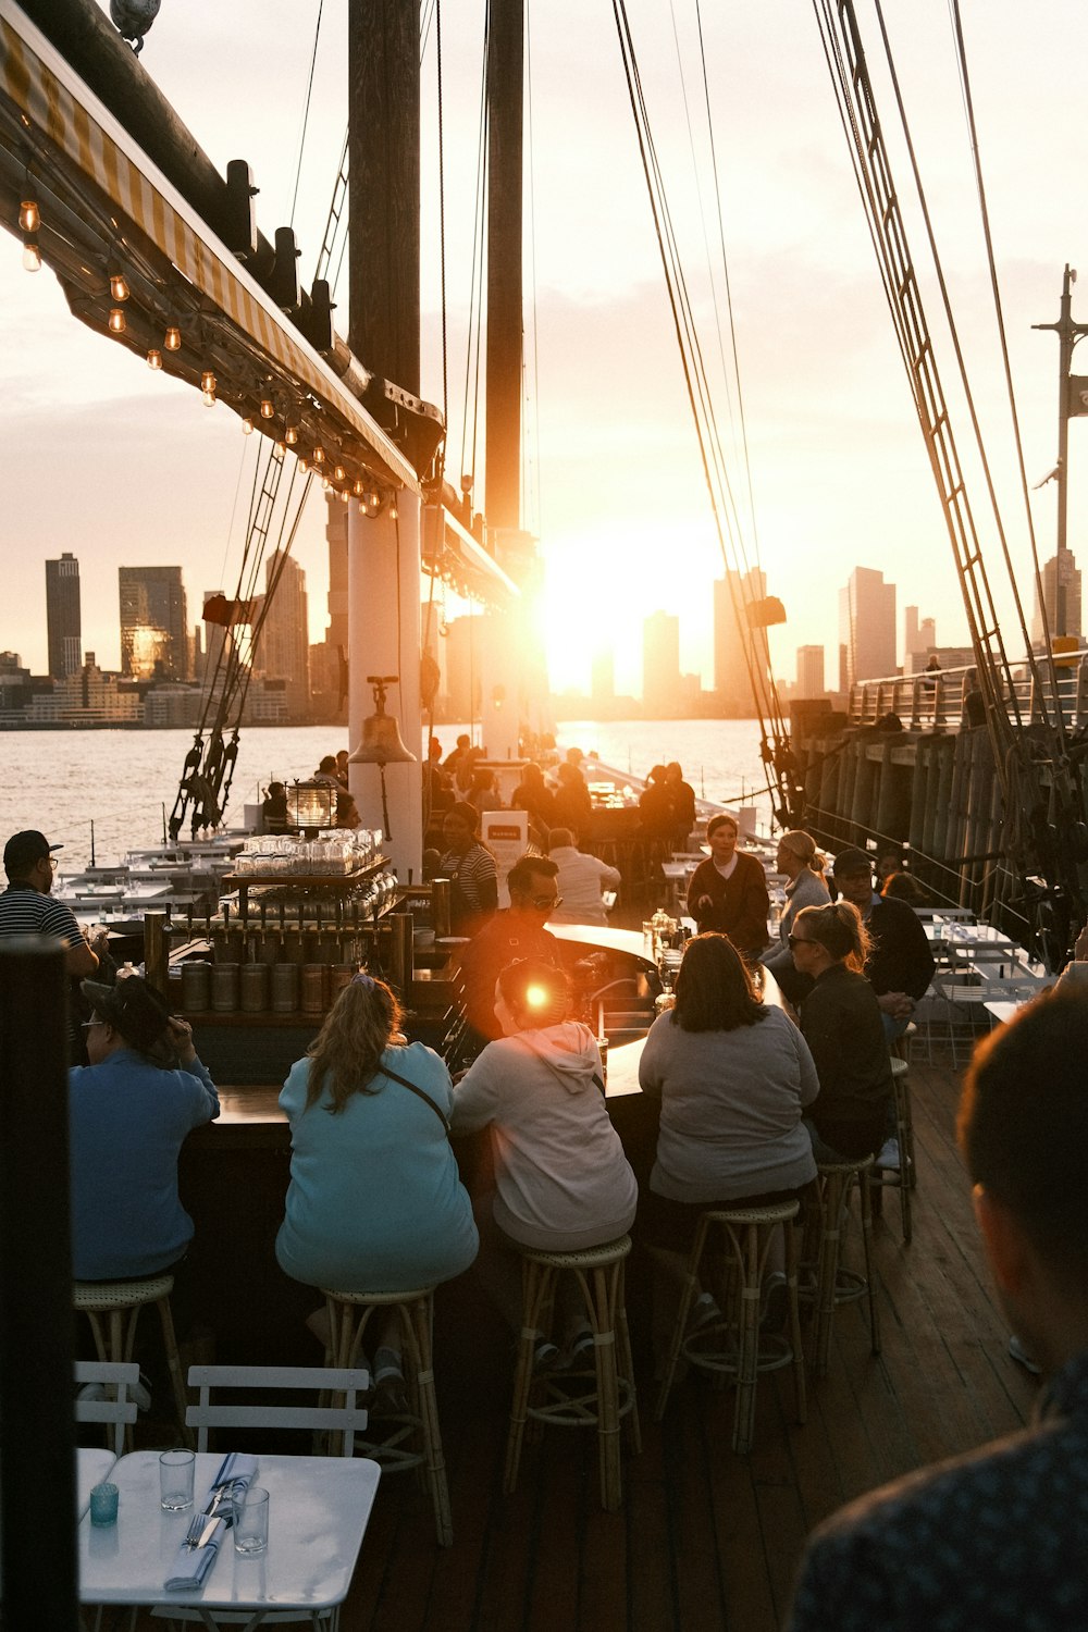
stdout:
<svg viewBox="0 0 1088 1632">
<path fill-rule="evenodd" d="M 732 1395 L 688 1377 L 652 1420 L 644 1276 L 628 1307 L 643 1454 L 625 1461 L 623 1513 L 597 1505 L 589 1436 L 551 1430 L 504 1498 L 509 1345 L 486 1306 L 450 1289 L 437 1376 L 455 1542 L 434 1544 L 411 1479 L 378 1492 L 344 1632 L 773 1632 L 807 1531 L 843 1501 L 936 1457 L 1018 1428 L 1033 1379 L 1006 1355 L 954 1146 L 958 1077 L 912 1066 L 918 1144 L 913 1242 L 899 1196 L 876 1226 L 882 1355 L 863 1304 L 838 1310 L 830 1374 L 793 1423 L 788 1373 L 760 1381 L 755 1449 L 729 1449 Z M 848 1258 L 860 1250 L 850 1244 Z"/>
</svg>

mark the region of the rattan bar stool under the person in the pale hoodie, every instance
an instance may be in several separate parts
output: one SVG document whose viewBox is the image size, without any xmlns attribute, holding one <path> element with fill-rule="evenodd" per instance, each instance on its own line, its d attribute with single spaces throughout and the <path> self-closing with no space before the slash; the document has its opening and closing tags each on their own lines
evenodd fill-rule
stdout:
<svg viewBox="0 0 1088 1632">
<path fill-rule="evenodd" d="M 561 1428 L 595 1428 L 600 1464 L 600 1505 L 615 1511 L 623 1500 L 620 1462 L 620 1423 L 626 1418 L 628 1435 L 636 1451 L 643 1449 L 638 1425 L 638 1397 L 631 1364 L 631 1338 L 623 1301 L 623 1262 L 631 1250 L 631 1237 L 586 1247 L 582 1252 L 537 1252 L 520 1248 L 522 1258 L 522 1333 L 514 1374 L 511 1431 L 506 1441 L 506 1477 L 509 1497 L 517 1485 L 525 1423 L 553 1423 Z M 533 1374 L 537 1340 L 551 1324 L 556 1281 L 573 1275 L 582 1294 L 586 1317 L 594 1335 L 594 1369 Z M 618 1348 L 618 1355 L 617 1355 Z M 532 1395 L 542 1395 L 533 1402 Z"/>
</svg>

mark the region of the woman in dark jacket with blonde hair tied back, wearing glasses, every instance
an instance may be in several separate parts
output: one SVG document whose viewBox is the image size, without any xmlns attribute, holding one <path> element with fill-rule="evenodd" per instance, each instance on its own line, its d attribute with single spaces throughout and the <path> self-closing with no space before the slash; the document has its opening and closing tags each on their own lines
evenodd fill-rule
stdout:
<svg viewBox="0 0 1088 1632">
<path fill-rule="evenodd" d="M 876 1155 L 892 1105 L 892 1066 L 876 994 L 861 969 L 869 937 L 848 901 L 803 907 L 789 935 L 793 960 L 812 978 L 801 1033 L 820 1092 L 804 1118 L 817 1162 Z"/>
</svg>

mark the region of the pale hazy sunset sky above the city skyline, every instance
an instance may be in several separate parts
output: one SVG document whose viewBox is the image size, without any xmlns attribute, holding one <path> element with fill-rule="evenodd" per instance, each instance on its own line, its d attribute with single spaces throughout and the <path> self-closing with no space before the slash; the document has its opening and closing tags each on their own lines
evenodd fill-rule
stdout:
<svg viewBox="0 0 1088 1632">
<path fill-rule="evenodd" d="M 0 0 L 7 5 L 7 0 Z M 315 95 L 295 228 L 308 281 L 320 246 L 346 127 L 347 0 L 325 0 Z M 248 158 L 261 188 L 266 237 L 290 215 L 316 0 L 163 0 L 142 62 L 220 170 Z M 878 103 L 923 263 L 894 101 L 886 88 L 874 13 L 858 15 Z M 990 308 L 962 98 L 946 0 L 886 0 L 912 134 L 930 194 L 953 302 L 962 325 L 979 411 L 1002 493 L 1015 475 Z M 708 299 L 705 240 L 718 242 L 710 193 L 693 0 L 631 0 L 643 85 L 669 184 L 703 348 L 718 338 Z M 1005 322 L 1028 477 L 1057 452 L 1057 339 L 1031 325 L 1059 313 L 1062 266 L 1088 263 L 1088 121 L 1077 73 L 1088 44 L 1083 0 L 966 0 L 964 33 L 988 188 Z M 675 33 L 674 33 L 675 29 Z M 481 0 L 442 11 L 447 264 L 450 299 L 450 454 L 462 447 L 465 308 L 471 255 Z M 760 561 L 786 605 L 773 636 L 778 671 L 793 677 L 799 645 L 827 648 L 834 681 L 837 592 L 853 565 L 884 571 L 902 609 L 938 620 L 938 640 L 966 638 L 951 547 L 928 472 L 889 315 L 876 276 L 822 46 L 807 0 L 703 0 L 703 36 L 732 310 L 742 369 Z M 550 583 L 553 684 L 587 684 L 597 645 L 615 646 L 618 689 L 641 690 L 641 619 L 680 614 L 682 666 L 711 684 L 710 583 L 721 557 L 688 419 L 672 318 L 626 103 L 607 0 L 530 0 L 532 160 L 527 215 L 533 271 L 525 323 L 529 470 L 525 517 L 540 535 Z M 683 113 L 687 75 L 692 135 Z M 432 104 L 434 34 L 424 55 Z M 703 186 L 693 186 L 692 145 Z M 434 119 L 424 168 L 434 163 Z M 424 380 L 442 400 L 437 207 L 424 197 Z M 1088 264 L 1086 264 L 1088 277 Z M 714 277 L 719 282 L 718 273 Z M 930 318 L 943 336 L 933 279 L 922 273 Z M 346 330 L 346 287 L 341 331 Z M 1073 297 L 1088 320 L 1088 290 Z M 961 454 L 944 339 L 940 356 Z M 0 648 L 46 666 L 44 560 L 80 558 L 83 643 L 119 664 L 117 565 L 184 565 L 191 619 L 199 594 L 230 588 L 251 477 L 238 419 L 206 410 L 196 392 L 152 375 L 129 353 L 88 333 L 67 312 L 52 274 L 29 276 L 16 237 L 0 235 L 0 356 L 5 372 L 0 543 L 5 596 Z M 365 357 L 362 359 L 367 361 Z M 1080 361 L 1080 359 L 1078 359 Z M 1088 356 L 1081 364 L 1088 372 Z M 731 410 L 718 398 L 734 460 Z M 1078 480 L 1085 428 L 1070 434 L 1070 545 L 1083 547 Z M 254 442 L 256 437 L 250 439 Z M 1054 483 L 1034 496 L 1039 548 L 1054 548 Z M 238 498 L 241 494 L 241 498 Z M 985 524 L 982 490 L 975 509 Z M 1023 508 L 1006 511 L 1028 601 Z M 1010 605 L 1003 566 L 985 530 L 992 584 Z M 297 557 L 312 594 L 312 633 L 325 623 L 323 504 L 312 499 Z M 453 609 L 450 609 L 452 612 Z M 1006 636 L 1013 654 L 1015 633 Z"/>
</svg>

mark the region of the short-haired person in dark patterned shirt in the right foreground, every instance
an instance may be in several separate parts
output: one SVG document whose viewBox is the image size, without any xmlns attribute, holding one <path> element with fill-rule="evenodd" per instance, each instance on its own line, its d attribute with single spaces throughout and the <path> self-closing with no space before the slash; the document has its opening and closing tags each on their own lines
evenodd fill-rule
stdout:
<svg viewBox="0 0 1088 1632">
<path fill-rule="evenodd" d="M 1036 999 L 979 1046 L 959 1110 L 998 1299 L 1044 1374 L 1031 1425 L 822 1524 L 789 1632 L 1088 1627 L 1085 1058 L 1085 996 Z"/>
</svg>

